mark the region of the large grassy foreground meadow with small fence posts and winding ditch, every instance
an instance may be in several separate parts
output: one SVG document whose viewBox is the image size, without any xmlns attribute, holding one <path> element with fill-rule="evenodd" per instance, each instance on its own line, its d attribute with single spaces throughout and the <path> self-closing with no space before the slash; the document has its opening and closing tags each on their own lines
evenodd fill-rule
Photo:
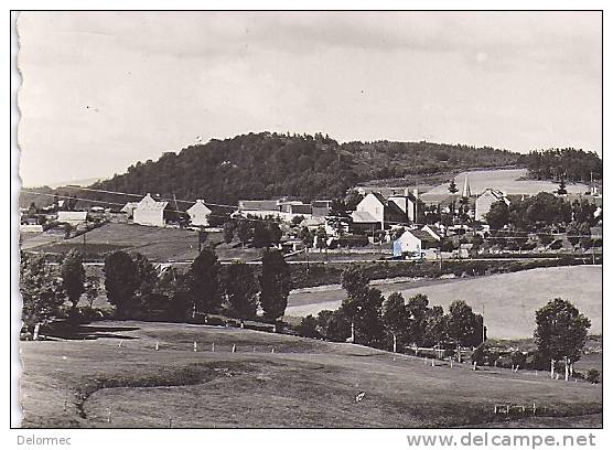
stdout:
<svg viewBox="0 0 613 450">
<path fill-rule="evenodd" d="M 359 345 L 204 325 L 98 322 L 87 331 L 85 341 L 20 343 L 23 427 L 601 425 L 601 386 L 545 373 L 432 367 Z M 495 404 L 534 403 L 536 418 L 493 414 Z"/>
</svg>

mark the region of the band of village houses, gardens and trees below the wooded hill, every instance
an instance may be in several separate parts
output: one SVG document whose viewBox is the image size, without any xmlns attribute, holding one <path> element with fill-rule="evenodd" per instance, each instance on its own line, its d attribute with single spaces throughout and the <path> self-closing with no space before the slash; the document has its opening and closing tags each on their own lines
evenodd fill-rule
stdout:
<svg viewBox="0 0 613 450">
<path fill-rule="evenodd" d="M 22 208 L 21 224 L 24 232 L 58 228 L 74 237 L 108 222 L 222 232 L 248 221 L 276 224 L 280 233 L 269 245 L 286 253 L 377 246 L 390 258 L 410 259 L 602 249 L 596 188 L 583 194 L 569 194 L 563 186 L 536 195 L 506 195 L 493 188 L 474 193 L 466 175 L 461 190 L 452 181 L 444 194 L 358 186 L 345 199 L 309 203 L 284 197 L 241 200 L 232 206 L 196 200 L 181 207 L 179 202 L 186 203 L 148 193 L 122 207 L 80 208 L 68 196 L 43 208 Z"/>
</svg>

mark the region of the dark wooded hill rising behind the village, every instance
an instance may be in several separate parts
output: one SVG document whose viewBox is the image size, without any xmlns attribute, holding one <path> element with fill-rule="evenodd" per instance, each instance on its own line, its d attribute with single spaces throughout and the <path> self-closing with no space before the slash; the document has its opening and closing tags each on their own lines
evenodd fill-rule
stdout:
<svg viewBox="0 0 613 450">
<path fill-rule="evenodd" d="M 340 144 L 320 133 L 260 132 L 166 152 L 158 161 L 137 162 L 126 173 L 92 188 L 225 204 L 282 195 L 308 201 L 344 195 L 348 188 L 368 180 L 515 165 L 518 159 L 519 153 L 490 147 L 390 141 Z M 112 195 L 96 197 L 117 201 Z"/>
</svg>

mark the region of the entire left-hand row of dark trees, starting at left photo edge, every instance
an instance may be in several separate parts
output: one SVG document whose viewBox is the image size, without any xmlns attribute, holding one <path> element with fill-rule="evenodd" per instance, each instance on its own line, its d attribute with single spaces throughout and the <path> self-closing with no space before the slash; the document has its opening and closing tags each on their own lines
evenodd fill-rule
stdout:
<svg viewBox="0 0 613 450">
<path fill-rule="evenodd" d="M 60 267 L 44 255 L 23 253 L 20 271 L 29 328 L 66 312 L 76 320 L 82 297 L 92 308 L 99 293 L 98 277 L 86 276 L 78 250 L 68 253 Z M 223 312 L 245 320 L 256 318 L 261 308 L 264 319 L 275 322 L 283 315 L 291 289 L 289 266 L 278 250 L 265 251 L 259 274 L 244 262 L 222 267 L 215 251 L 205 248 L 185 272 L 170 267 L 160 276 L 143 255 L 119 250 L 105 258 L 104 274 L 108 302 L 119 319 L 187 320 Z"/>
</svg>

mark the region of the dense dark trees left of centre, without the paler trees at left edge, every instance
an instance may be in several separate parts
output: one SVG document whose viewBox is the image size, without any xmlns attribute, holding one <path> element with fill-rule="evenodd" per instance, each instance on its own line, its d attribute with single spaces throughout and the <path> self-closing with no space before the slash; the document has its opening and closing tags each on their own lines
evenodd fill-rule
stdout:
<svg viewBox="0 0 613 450">
<path fill-rule="evenodd" d="M 291 289 L 289 266 L 278 250 L 266 250 L 257 276 L 245 262 L 222 268 L 215 251 L 204 248 L 184 274 L 169 268 L 160 277 L 140 254 L 115 251 L 105 259 L 105 289 L 120 318 L 159 312 L 187 319 L 225 312 L 277 321 L 286 311 Z"/>
</svg>

